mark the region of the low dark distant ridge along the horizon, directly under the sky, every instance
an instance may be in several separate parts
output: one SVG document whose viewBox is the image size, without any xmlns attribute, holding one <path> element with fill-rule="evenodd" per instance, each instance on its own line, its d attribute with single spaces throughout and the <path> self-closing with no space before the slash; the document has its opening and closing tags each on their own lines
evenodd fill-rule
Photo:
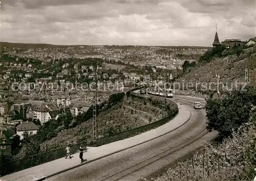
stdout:
<svg viewBox="0 0 256 181">
<path fill-rule="evenodd" d="M 8 47 L 8 48 L 65 48 L 65 47 L 91 47 L 89 45 L 69 45 L 69 46 L 64 46 L 64 45 L 55 45 L 55 44 L 44 44 L 44 43 L 10 43 L 10 42 L 0 42 L 1 47 Z M 211 49 L 211 47 L 197 47 L 197 46 L 104 46 L 106 48 L 149 48 L 149 47 L 161 47 L 161 48 L 171 48 L 171 49 Z"/>
</svg>

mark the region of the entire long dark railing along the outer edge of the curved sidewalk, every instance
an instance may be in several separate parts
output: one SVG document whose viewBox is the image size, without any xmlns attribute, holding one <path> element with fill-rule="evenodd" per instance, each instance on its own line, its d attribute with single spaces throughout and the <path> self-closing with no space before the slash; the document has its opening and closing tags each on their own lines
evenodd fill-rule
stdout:
<svg viewBox="0 0 256 181">
<path fill-rule="evenodd" d="M 135 90 L 138 90 L 140 88 L 141 87 L 132 89 L 129 91 L 129 93 L 135 97 L 143 97 L 140 94 L 134 93 Z M 167 101 L 170 101 L 170 100 L 167 100 Z M 177 106 L 177 109 L 172 114 L 170 114 L 169 116 L 167 116 L 164 119 L 161 119 L 159 121 L 156 121 L 151 124 L 147 124 L 147 125 L 144 125 L 144 126 L 141 126 L 138 128 L 134 128 L 134 129 L 123 131 L 123 132 L 116 133 L 116 134 L 112 134 L 107 137 L 99 138 L 99 139 L 97 139 L 97 146 L 112 143 L 112 142 L 115 142 L 118 140 L 123 140 L 125 138 L 129 138 L 134 135 L 137 135 L 138 133 L 145 132 L 145 131 L 153 129 L 155 127 L 159 127 L 159 126 L 167 123 L 171 119 L 173 119 L 178 114 L 178 112 L 179 112 L 179 109 Z M 90 144 L 90 141 L 89 142 L 88 141 L 89 140 L 87 139 L 87 141 L 85 141 L 85 142 L 77 143 L 77 144 L 70 146 L 70 148 L 71 148 L 70 154 L 76 153 L 80 146 L 86 148 L 88 146 L 88 143 Z M 51 150 L 48 152 L 32 155 L 32 156 L 26 157 L 24 159 L 15 160 L 15 161 L 11 161 L 11 162 L 2 164 L 1 169 L 0 169 L 0 175 L 3 176 L 3 175 L 11 174 L 13 172 L 31 168 L 31 167 L 34 167 L 37 165 L 41 165 L 41 164 L 51 162 L 51 161 L 60 159 L 62 157 L 65 157 L 66 156 L 65 148 L 66 147 L 58 148 L 58 149 Z"/>
</svg>

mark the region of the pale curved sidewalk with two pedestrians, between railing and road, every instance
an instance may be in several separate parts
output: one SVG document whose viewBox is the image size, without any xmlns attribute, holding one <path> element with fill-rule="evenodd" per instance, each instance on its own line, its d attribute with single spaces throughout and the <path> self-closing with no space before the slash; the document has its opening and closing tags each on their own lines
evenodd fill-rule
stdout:
<svg viewBox="0 0 256 181">
<path fill-rule="evenodd" d="M 63 157 L 52 162 L 41 164 L 9 175 L 5 175 L 3 177 L 0 177 L 0 180 L 43 180 L 46 177 L 68 171 L 80 165 L 93 162 L 95 160 L 101 159 L 102 157 L 117 153 L 127 148 L 132 148 L 139 144 L 161 137 L 161 135 L 181 127 L 189 120 L 191 116 L 190 110 L 185 105 L 178 104 L 178 107 L 179 114 L 170 122 L 156 129 L 152 129 L 150 131 L 138 134 L 135 137 L 127 138 L 99 147 L 88 147 L 88 151 L 83 153 L 83 158 L 84 160 L 87 160 L 87 162 L 80 164 L 79 153 L 76 153 L 72 155 L 72 159 L 65 159 L 65 157 Z"/>
</svg>

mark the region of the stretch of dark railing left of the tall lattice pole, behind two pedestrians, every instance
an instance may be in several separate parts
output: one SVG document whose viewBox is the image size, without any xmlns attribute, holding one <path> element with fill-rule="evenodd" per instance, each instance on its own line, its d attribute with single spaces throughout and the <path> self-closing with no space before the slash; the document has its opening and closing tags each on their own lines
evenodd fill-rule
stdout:
<svg viewBox="0 0 256 181">
<path fill-rule="evenodd" d="M 70 154 L 77 153 L 79 147 L 87 149 L 87 142 L 81 142 L 70 146 Z M 51 162 L 67 155 L 66 147 L 58 148 L 44 153 L 39 153 L 33 156 L 26 157 L 24 159 L 12 161 L 3 164 L 0 169 L 0 175 L 7 175 L 13 172 L 31 168 L 37 165 L 41 165 L 47 162 Z"/>
</svg>

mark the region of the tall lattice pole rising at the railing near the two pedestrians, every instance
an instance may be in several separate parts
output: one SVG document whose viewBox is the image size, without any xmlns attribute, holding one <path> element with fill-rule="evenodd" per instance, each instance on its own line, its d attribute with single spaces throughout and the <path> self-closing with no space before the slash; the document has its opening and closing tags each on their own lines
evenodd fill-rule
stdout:
<svg viewBox="0 0 256 181">
<path fill-rule="evenodd" d="M 96 115 L 96 105 L 97 105 L 97 74 L 96 69 L 93 69 L 93 142 L 97 146 L 97 115 Z"/>
</svg>

